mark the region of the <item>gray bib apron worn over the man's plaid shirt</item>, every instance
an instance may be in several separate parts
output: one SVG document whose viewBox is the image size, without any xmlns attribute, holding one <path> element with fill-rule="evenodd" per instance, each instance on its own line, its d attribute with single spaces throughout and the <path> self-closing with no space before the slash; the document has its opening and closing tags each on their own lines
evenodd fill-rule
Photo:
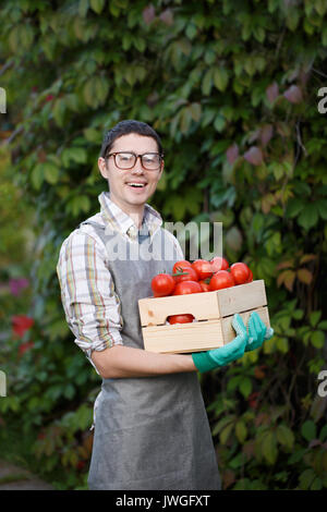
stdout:
<svg viewBox="0 0 327 512">
<path fill-rule="evenodd" d="M 81 224 L 84 223 L 94 225 L 108 253 L 107 266 L 120 301 L 123 343 L 144 350 L 137 300 L 152 296 L 153 277 L 164 270 L 170 273 L 172 265 L 180 259 L 175 252 L 172 259 L 161 258 L 162 244 L 175 251 L 172 240 L 161 228 L 150 240 L 142 228 L 138 242 L 129 242 L 118 232 L 108 234 L 108 228 L 99 223 L 85 221 Z M 126 247 L 130 259 L 112 257 L 117 241 Z M 145 248 L 147 254 L 153 251 L 154 257 L 133 260 L 129 251 L 132 244 Z M 88 488 L 220 489 L 213 437 L 196 371 L 102 379 Z"/>
</svg>

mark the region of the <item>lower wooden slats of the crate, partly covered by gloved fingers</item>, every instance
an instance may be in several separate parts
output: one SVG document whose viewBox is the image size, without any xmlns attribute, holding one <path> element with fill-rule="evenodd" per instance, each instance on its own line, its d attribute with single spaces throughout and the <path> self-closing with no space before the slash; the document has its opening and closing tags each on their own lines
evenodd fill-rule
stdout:
<svg viewBox="0 0 327 512">
<path fill-rule="evenodd" d="M 270 327 L 267 307 L 240 313 L 244 325 L 250 314 L 256 310 L 267 327 Z M 218 349 L 235 338 L 232 316 L 215 320 L 193 321 L 172 326 L 150 326 L 142 328 L 144 348 L 157 353 L 189 353 Z"/>
</svg>

